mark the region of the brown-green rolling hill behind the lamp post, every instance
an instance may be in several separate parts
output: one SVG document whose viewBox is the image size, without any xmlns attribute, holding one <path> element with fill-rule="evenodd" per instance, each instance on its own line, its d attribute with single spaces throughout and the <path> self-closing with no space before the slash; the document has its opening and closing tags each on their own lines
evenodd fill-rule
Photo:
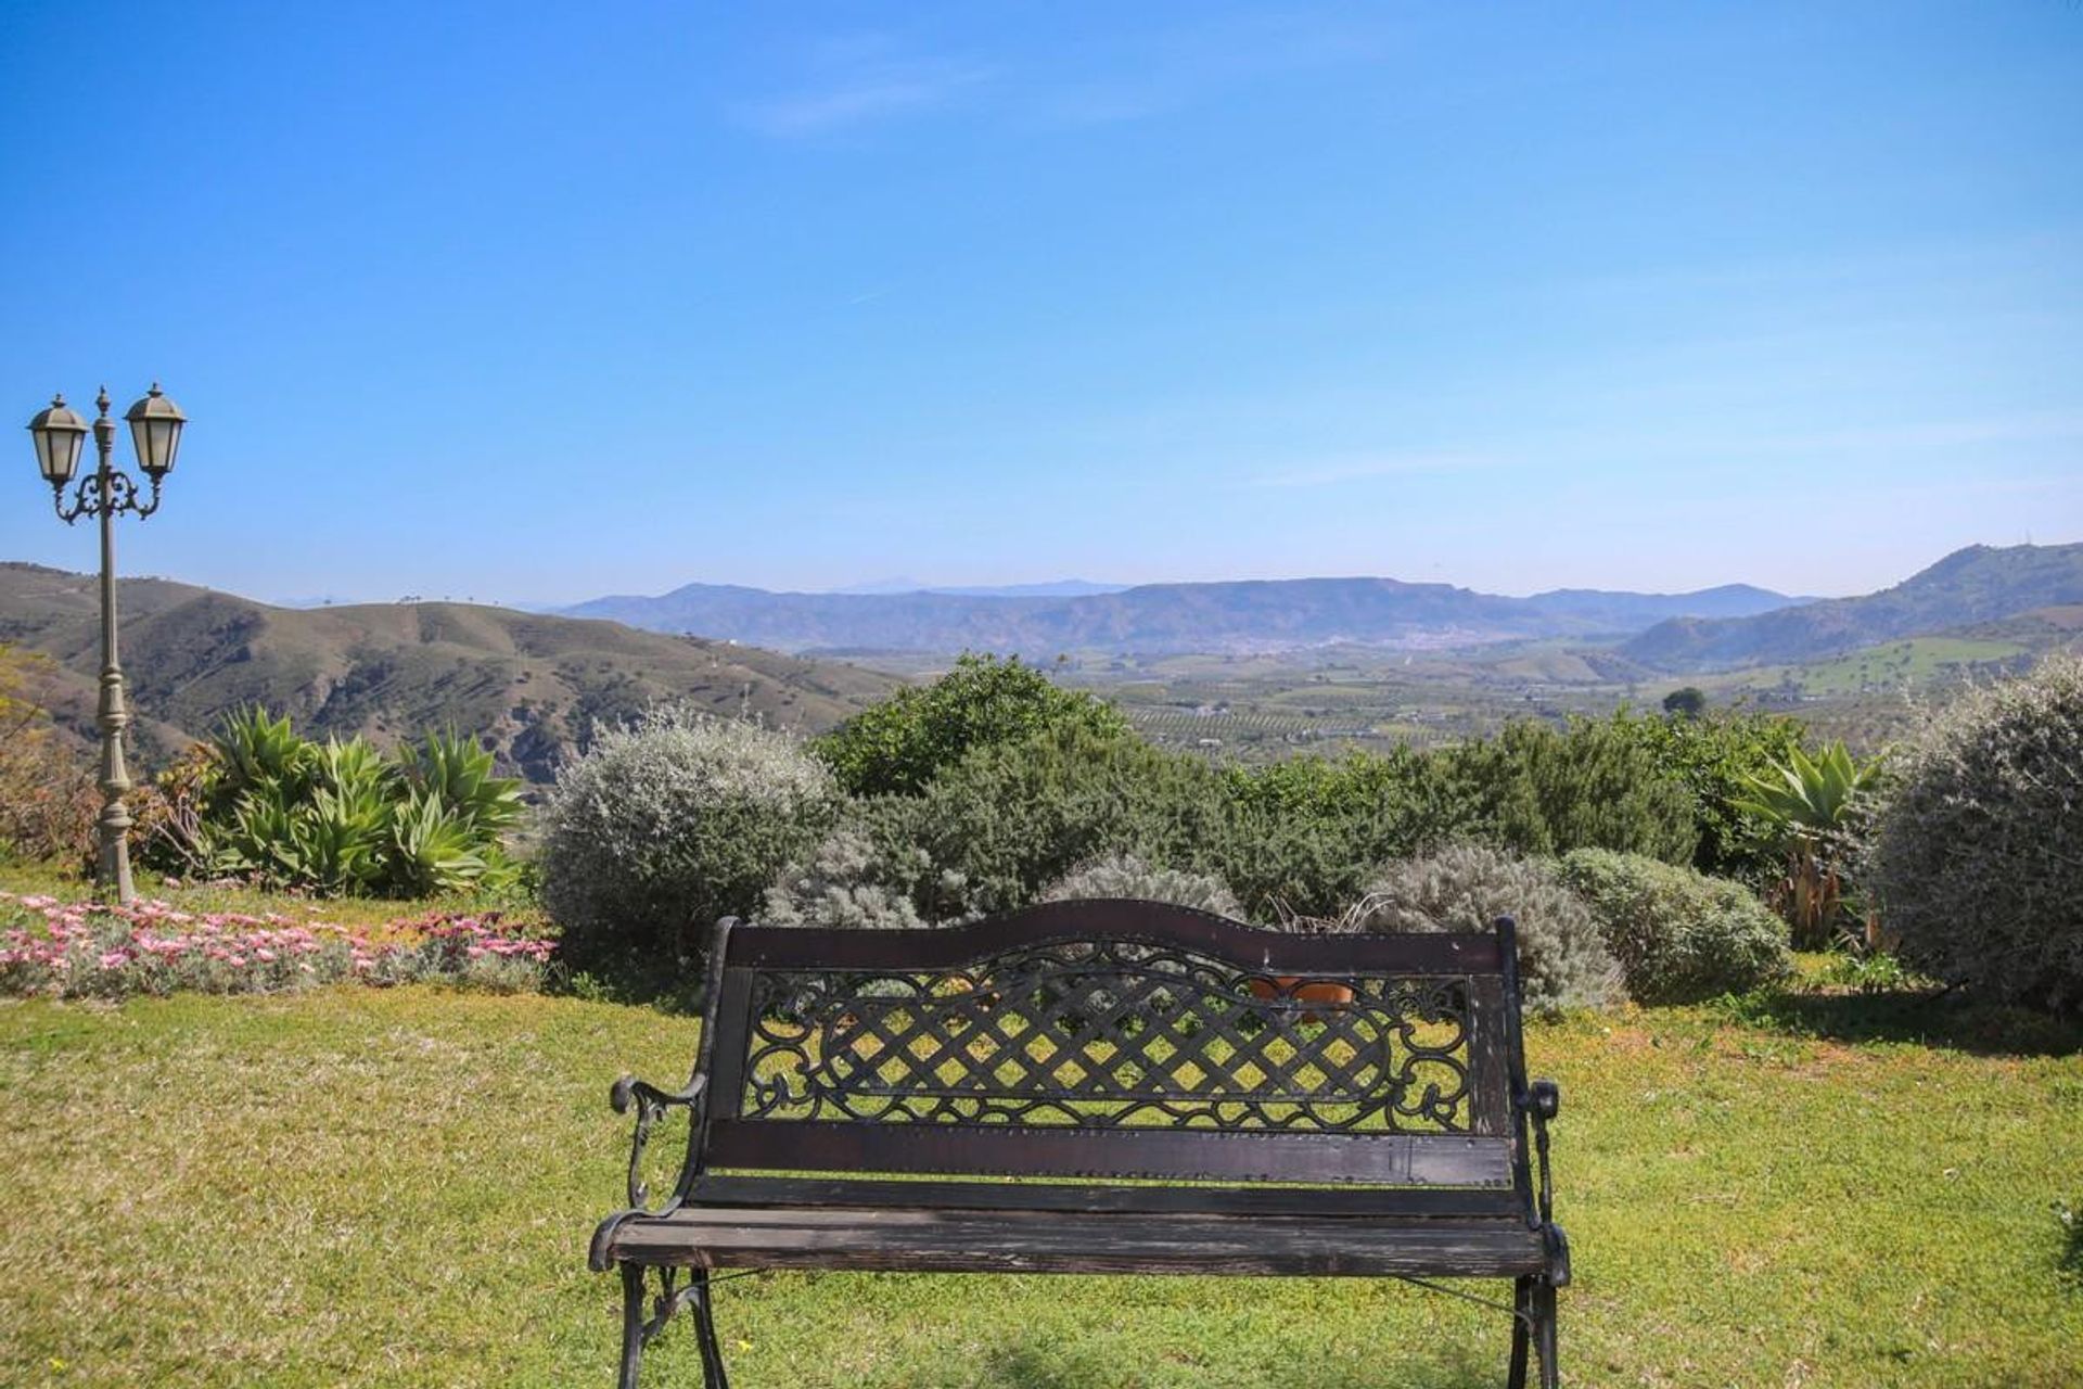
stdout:
<svg viewBox="0 0 2083 1389">
<path fill-rule="evenodd" d="M 96 581 L 0 562 L 0 641 L 50 656 L 52 708 L 87 731 L 100 668 Z M 729 641 L 475 604 L 275 608 L 231 594 L 125 579 L 123 671 L 150 762 L 258 702 L 306 733 L 390 741 L 454 725 L 500 762 L 548 781 L 596 718 L 667 698 L 752 710 L 781 727 L 825 729 L 898 681 Z"/>
</svg>

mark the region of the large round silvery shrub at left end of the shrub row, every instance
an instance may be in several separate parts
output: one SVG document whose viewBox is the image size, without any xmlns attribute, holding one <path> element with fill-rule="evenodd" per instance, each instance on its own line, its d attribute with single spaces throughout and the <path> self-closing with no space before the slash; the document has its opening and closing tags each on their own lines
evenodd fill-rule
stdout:
<svg viewBox="0 0 2083 1389">
<path fill-rule="evenodd" d="M 596 729 L 542 814 L 542 900 L 581 968 L 677 966 L 825 837 L 839 791 L 802 743 L 660 706 Z"/>
</svg>

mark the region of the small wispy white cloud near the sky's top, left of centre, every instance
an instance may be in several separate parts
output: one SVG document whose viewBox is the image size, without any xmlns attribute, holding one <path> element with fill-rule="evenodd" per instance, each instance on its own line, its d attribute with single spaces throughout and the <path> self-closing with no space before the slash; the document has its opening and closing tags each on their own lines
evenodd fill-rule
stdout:
<svg viewBox="0 0 2083 1389">
<path fill-rule="evenodd" d="M 946 106 L 992 77 L 983 62 L 906 54 L 873 35 L 825 44 L 808 65 L 802 85 L 742 102 L 739 125 L 775 140 L 829 135 Z"/>
</svg>

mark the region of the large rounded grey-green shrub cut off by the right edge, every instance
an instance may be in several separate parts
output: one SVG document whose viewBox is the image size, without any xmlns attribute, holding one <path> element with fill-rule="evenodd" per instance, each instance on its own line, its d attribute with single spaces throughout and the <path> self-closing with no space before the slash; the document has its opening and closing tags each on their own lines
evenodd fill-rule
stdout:
<svg viewBox="0 0 2083 1389">
<path fill-rule="evenodd" d="M 2083 660 L 1962 696 L 1906 748 L 1864 885 L 1912 966 L 2083 1006 Z"/>
</svg>

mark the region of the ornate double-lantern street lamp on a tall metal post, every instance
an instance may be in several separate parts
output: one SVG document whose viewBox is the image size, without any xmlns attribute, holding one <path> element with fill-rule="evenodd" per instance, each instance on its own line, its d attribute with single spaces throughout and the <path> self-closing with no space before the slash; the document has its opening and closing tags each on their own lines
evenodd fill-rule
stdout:
<svg viewBox="0 0 2083 1389">
<path fill-rule="evenodd" d="M 123 793 L 129 791 L 129 771 L 123 766 L 123 729 L 129 727 L 129 706 L 123 702 L 123 666 L 117 664 L 117 533 L 115 521 L 123 512 L 140 519 L 158 510 L 158 485 L 173 471 L 173 454 L 181 448 L 181 425 L 187 416 L 181 406 L 167 400 L 158 381 L 144 400 L 123 412 L 131 427 L 131 446 L 137 450 L 137 466 L 152 481 L 152 496 L 140 496 L 137 483 L 110 464 L 117 448 L 117 423 L 108 419 L 108 387 L 96 396 L 100 416 L 94 421 L 94 448 L 100 466 L 79 479 L 73 500 L 65 500 L 65 485 L 79 471 L 79 450 L 87 441 L 87 423 L 65 404 L 65 396 L 52 396 L 48 410 L 37 410 L 29 421 L 35 437 L 35 466 L 50 483 L 50 502 L 58 521 L 67 525 L 81 516 L 102 519 L 102 816 L 100 879 L 104 887 L 115 887 L 117 902 L 129 904 L 137 891 L 129 877 L 129 808 Z"/>
</svg>

